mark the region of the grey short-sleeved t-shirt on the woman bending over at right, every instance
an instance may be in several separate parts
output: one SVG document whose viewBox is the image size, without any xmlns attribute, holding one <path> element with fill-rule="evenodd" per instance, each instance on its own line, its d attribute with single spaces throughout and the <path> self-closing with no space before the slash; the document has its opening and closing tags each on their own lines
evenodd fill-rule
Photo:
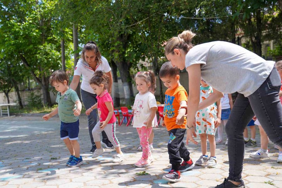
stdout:
<svg viewBox="0 0 282 188">
<path fill-rule="evenodd" d="M 215 41 L 194 46 L 185 58 L 185 67 L 201 64 L 201 78 L 223 93 L 253 94 L 269 76 L 274 61 L 266 61 L 245 48 Z"/>
</svg>

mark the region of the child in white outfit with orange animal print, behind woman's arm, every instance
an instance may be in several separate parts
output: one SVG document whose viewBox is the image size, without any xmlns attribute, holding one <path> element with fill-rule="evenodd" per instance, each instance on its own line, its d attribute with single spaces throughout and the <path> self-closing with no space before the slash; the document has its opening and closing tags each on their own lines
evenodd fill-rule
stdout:
<svg viewBox="0 0 282 188">
<path fill-rule="evenodd" d="M 200 87 L 200 102 L 206 100 L 212 94 L 212 87 L 209 86 L 203 79 L 201 79 Z M 217 158 L 215 156 L 216 142 L 215 133 L 216 128 L 220 125 L 221 119 L 221 103 L 220 100 L 216 104 L 212 104 L 209 107 L 199 110 L 196 112 L 196 133 L 200 135 L 201 138 L 201 149 L 202 155 L 196 161 L 196 165 L 205 165 L 207 167 L 215 168 L 217 167 Z M 210 143 L 211 156 L 207 155 L 207 144 L 206 135 Z"/>
</svg>

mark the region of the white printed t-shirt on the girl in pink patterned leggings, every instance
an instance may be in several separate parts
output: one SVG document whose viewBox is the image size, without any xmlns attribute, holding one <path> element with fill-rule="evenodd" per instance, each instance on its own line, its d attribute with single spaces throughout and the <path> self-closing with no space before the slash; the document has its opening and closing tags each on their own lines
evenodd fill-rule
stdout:
<svg viewBox="0 0 282 188">
<path fill-rule="evenodd" d="M 134 122 L 133 127 L 141 128 L 146 126 L 144 124 L 150 117 L 151 110 L 150 108 L 157 107 L 157 101 L 155 96 L 151 92 L 147 92 L 143 95 L 139 93 L 135 97 L 133 104 L 134 109 Z M 154 119 L 152 120 L 152 127 L 154 127 Z"/>
</svg>

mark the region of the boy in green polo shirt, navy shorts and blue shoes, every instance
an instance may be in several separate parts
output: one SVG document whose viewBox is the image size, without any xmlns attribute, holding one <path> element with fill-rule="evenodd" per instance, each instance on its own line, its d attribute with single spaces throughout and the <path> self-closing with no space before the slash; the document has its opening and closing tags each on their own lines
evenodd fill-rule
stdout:
<svg viewBox="0 0 282 188">
<path fill-rule="evenodd" d="M 79 133 L 78 116 L 81 112 L 81 102 L 76 92 L 69 88 L 69 77 L 63 70 L 53 72 L 49 83 L 58 91 L 56 98 L 58 107 L 42 118 L 47 121 L 59 113 L 61 120 L 60 137 L 70 151 L 70 158 L 66 165 L 68 167 L 81 165 L 83 160 L 80 156 L 80 146 L 77 142 Z"/>
</svg>

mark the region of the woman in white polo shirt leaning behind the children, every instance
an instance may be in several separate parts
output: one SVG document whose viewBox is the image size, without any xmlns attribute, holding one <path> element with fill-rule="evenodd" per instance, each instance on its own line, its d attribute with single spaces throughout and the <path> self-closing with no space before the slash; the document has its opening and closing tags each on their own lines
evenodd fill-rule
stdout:
<svg viewBox="0 0 282 188">
<path fill-rule="evenodd" d="M 95 42 L 89 41 L 87 42 L 82 50 L 81 53 L 81 59 L 78 60 L 74 74 L 73 79 L 70 84 L 70 88 L 73 90 L 76 90 L 76 87 L 80 81 L 80 76 L 82 75 L 82 82 L 81 82 L 81 97 L 83 104 L 86 109 L 93 106 L 96 101 L 96 94 L 94 93 L 93 89 L 89 85 L 90 79 L 93 77 L 94 72 L 96 70 L 101 70 L 105 72 L 107 76 L 110 77 L 110 84 L 108 92 L 111 94 L 112 90 L 112 73 L 111 73 L 111 67 L 107 61 L 106 58 L 101 56 L 100 50 L 97 47 Z M 89 129 L 89 135 L 91 139 L 92 148 L 90 153 L 93 154 L 96 146 L 93 140 L 92 136 L 92 129 L 95 127 L 97 123 L 97 114 L 96 110 L 93 110 L 90 115 L 88 116 L 88 129 Z M 102 142 L 106 148 L 113 148 L 112 143 L 109 141 L 106 133 L 102 132 Z"/>
</svg>

